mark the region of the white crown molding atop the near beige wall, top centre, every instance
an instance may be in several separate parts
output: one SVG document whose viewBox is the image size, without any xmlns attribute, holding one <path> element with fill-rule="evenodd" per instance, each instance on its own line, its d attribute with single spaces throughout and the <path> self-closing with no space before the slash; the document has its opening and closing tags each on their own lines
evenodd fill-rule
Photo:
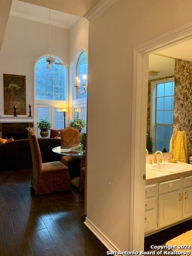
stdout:
<svg viewBox="0 0 192 256">
<path fill-rule="evenodd" d="M 103 0 L 100 1 L 97 5 L 95 5 L 89 12 L 84 15 L 84 18 L 92 22 L 97 19 L 101 13 L 109 8 L 113 3 L 117 0 Z"/>
</svg>

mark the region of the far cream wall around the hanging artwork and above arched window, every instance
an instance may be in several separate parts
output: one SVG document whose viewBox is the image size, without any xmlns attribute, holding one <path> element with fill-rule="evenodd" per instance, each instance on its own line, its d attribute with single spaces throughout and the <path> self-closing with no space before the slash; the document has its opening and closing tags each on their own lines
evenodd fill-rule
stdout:
<svg viewBox="0 0 192 256">
<path fill-rule="evenodd" d="M 54 27 L 52 54 L 69 61 L 69 30 Z M 4 116 L 3 74 L 26 76 L 26 105 L 31 104 L 34 115 L 34 63 L 41 55 L 49 53 L 49 25 L 26 19 L 9 17 L 0 52 L 0 115 Z M 15 121 L 15 119 L 13 119 Z"/>
</svg>

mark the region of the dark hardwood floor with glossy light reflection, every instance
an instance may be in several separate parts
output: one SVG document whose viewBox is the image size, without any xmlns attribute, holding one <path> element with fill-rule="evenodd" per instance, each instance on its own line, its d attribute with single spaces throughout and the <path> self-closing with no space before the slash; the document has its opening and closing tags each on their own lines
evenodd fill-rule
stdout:
<svg viewBox="0 0 192 256">
<path fill-rule="evenodd" d="M 83 195 L 34 196 L 31 170 L 0 172 L 1 256 L 106 256 L 83 223 Z"/>
</svg>

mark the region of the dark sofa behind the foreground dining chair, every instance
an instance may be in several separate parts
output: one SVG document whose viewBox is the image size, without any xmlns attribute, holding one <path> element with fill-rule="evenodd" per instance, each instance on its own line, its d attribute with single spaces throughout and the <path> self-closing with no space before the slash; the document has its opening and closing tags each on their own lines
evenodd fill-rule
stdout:
<svg viewBox="0 0 192 256">
<path fill-rule="evenodd" d="M 38 138 L 42 163 L 60 161 L 60 154 L 52 148 L 60 146 L 56 138 Z M 0 171 L 12 171 L 32 168 L 32 157 L 28 139 L 14 140 L 0 145 Z"/>
</svg>

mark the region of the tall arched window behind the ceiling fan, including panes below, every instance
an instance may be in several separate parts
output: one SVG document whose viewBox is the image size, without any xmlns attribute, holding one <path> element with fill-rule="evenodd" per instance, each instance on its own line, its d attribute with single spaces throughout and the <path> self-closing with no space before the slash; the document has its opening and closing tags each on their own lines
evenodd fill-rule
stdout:
<svg viewBox="0 0 192 256">
<path fill-rule="evenodd" d="M 46 58 L 49 56 L 39 58 L 34 68 L 36 121 L 47 118 L 51 121 L 52 129 L 63 129 L 63 113 L 57 110 L 65 106 L 67 101 L 67 70 L 55 63 L 47 68 Z M 61 63 L 57 58 L 54 59 Z"/>
</svg>

